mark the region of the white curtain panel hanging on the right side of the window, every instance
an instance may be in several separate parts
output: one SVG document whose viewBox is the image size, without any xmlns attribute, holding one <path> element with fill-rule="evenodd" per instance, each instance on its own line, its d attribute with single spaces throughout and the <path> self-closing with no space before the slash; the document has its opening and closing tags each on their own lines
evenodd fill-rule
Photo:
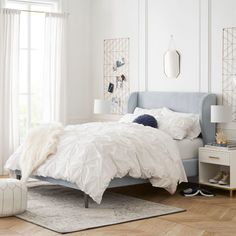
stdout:
<svg viewBox="0 0 236 236">
<path fill-rule="evenodd" d="M 66 123 L 67 14 L 47 13 L 45 19 L 44 122 Z"/>
</svg>

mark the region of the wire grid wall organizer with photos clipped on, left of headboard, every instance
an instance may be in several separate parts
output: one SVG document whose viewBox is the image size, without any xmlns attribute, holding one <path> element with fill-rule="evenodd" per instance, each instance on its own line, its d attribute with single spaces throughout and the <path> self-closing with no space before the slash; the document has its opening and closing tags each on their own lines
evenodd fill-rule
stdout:
<svg viewBox="0 0 236 236">
<path fill-rule="evenodd" d="M 104 40 L 104 99 L 111 102 L 111 113 L 123 114 L 130 93 L 129 38 Z"/>
</svg>

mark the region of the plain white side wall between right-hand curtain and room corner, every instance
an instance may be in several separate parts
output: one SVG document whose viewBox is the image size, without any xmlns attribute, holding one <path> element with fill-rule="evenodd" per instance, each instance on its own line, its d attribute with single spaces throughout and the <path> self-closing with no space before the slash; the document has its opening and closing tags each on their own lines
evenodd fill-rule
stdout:
<svg viewBox="0 0 236 236">
<path fill-rule="evenodd" d="M 91 117 L 90 62 L 90 0 L 67 0 L 68 33 L 68 102 L 69 123 L 83 122 Z"/>
</svg>

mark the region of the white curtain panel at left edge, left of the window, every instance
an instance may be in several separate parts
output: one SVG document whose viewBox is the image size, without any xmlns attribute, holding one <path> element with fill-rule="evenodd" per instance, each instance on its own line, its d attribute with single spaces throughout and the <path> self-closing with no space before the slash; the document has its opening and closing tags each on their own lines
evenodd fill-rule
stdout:
<svg viewBox="0 0 236 236">
<path fill-rule="evenodd" d="M 20 12 L 0 9 L 0 175 L 19 145 L 18 65 Z"/>
</svg>

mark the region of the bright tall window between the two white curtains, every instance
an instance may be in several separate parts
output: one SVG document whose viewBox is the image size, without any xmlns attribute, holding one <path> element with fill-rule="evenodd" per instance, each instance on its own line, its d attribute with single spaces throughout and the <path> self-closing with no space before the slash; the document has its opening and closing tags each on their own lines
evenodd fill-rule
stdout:
<svg viewBox="0 0 236 236">
<path fill-rule="evenodd" d="M 22 140 L 43 121 L 45 14 L 58 11 L 58 1 L 7 0 L 7 8 L 23 10 L 20 23 L 19 127 Z"/>
</svg>

